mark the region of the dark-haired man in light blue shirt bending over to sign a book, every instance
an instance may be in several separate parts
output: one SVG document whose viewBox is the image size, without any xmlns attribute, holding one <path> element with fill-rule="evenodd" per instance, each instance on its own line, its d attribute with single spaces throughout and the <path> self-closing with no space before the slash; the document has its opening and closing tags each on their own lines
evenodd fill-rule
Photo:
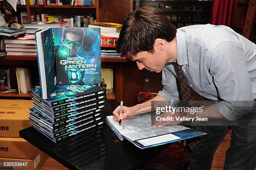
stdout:
<svg viewBox="0 0 256 170">
<path fill-rule="evenodd" d="M 143 7 L 129 13 L 123 22 L 117 49 L 136 61 L 138 69 L 162 71 L 164 89 L 153 99 L 133 107 L 120 107 L 113 119 L 151 111 L 151 101 L 178 101 L 183 98 L 183 74 L 187 86 L 210 100 L 221 100 L 205 107 L 198 117 L 236 120 L 248 114 L 233 109 L 236 101 L 256 99 L 256 45 L 232 29 L 219 25 L 191 25 L 176 30 L 158 10 Z M 181 71 L 182 73 L 180 73 Z M 251 105 L 249 107 L 252 107 Z M 250 110 L 250 109 L 249 109 Z M 182 114 L 182 113 L 175 113 Z M 154 126 L 179 124 L 154 122 Z M 230 148 L 224 169 L 254 170 L 256 166 L 256 127 L 202 126 L 207 135 L 199 147 L 189 148 L 191 170 L 210 170 L 212 157 L 229 129 Z"/>
</svg>

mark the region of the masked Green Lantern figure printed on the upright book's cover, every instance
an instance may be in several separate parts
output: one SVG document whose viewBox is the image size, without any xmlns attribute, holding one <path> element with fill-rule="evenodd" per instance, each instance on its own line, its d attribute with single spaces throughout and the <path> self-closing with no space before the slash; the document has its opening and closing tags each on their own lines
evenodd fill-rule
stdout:
<svg viewBox="0 0 256 170">
<path fill-rule="evenodd" d="M 84 29 L 83 28 L 63 28 L 62 29 L 62 45 L 55 45 L 57 63 L 63 59 L 69 58 L 69 60 L 75 61 L 83 60 L 77 54 L 79 48 L 83 45 Z M 61 76 L 63 76 L 62 84 L 83 84 L 84 71 L 79 69 L 66 69 L 66 65 L 61 66 Z M 65 81 L 66 80 L 66 81 Z M 68 81 L 67 81 L 68 80 Z"/>
</svg>

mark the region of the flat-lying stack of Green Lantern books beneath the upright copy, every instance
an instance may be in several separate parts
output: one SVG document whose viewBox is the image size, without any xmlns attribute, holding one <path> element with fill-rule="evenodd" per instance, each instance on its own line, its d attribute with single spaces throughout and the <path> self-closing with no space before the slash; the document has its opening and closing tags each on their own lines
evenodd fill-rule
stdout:
<svg viewBox="0 0 256 170">
<path fill-rule="evenodd" d="M 41 89 L 32 89 L 30 123 L 54 142 L 64 140 L 103 124 L 106 90 L 99 86 L 56 86 L 51 98 L 44 100 Z"/>
</svg>

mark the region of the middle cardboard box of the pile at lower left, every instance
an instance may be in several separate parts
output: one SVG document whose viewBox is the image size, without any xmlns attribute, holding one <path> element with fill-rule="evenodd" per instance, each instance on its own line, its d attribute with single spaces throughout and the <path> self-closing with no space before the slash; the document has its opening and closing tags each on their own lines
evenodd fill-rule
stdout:
<svg viewBox="0 0 256 170">
<path fill-rule="evenodd" d="M 38 148 L 20 137 L 0 137 L 0 157 L 33 159 Z"/>
</svg>

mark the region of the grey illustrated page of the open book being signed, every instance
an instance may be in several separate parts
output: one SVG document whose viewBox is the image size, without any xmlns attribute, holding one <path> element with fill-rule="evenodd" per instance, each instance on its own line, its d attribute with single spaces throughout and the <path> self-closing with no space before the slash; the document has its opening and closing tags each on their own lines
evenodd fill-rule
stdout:
<svg viewBox="0 0 256 170">
<path fill-rule="evenodd" d="M 125 119 L 125 123 L 121 123 L 121 125 L 119 125 L 118 121 L 113 119 L 113 116 L 108 116 L 107 121 L 112 124 L 120 134 L 133 141 L 189 129 L 188 127 L 180 125 L 153 127 L 150 124 L 150 113 L 139 114 L 131 119 Z"/>
</svg>

